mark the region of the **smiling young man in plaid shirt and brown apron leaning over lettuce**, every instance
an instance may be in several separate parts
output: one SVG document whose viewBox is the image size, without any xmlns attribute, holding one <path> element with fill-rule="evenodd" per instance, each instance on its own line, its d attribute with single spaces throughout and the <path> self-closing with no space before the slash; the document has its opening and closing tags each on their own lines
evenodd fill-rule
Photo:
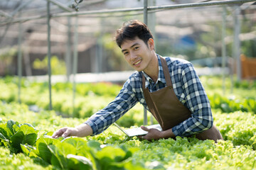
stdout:
<svg viewBox="0 0 256 170">
<path fill-rule="evenodd" d="M 97 135 L 139 102 L 163 129 L 160 132 L 142 126 L 148 132 L 142 137 L 145 140 L 191 135 L 215 142 L 223 139 L 213 125 L 206 91 L 190 62 L 157 55 L 153 36 L 140 21 L 130 21 L 117 30 L 116 42 L 124 59 L 137 72 L 108 106 L 76 128 L 57 130 L 53 137 Z"/>
</svg>

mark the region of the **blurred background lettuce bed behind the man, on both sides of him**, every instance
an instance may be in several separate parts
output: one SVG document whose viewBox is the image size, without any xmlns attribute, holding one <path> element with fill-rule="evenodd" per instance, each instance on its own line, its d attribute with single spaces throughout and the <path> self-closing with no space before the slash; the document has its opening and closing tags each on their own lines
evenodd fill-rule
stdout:
<svg viewBox="0 0 256 170">
<path fill-rule="evenodd" d="M 240 86 L 236 83 L 237 85 L 232 95 L 223 95 L 221 79 L 218 79 L 218 77 L 202 77 L 201 79 L 208 93 L 211 108 L 218 109 L 224 113 L 232 113 L 235 111 L 256 113 L 255 81 L 249 83 L 245 81 L 240 83 L 243 84 Z M 17 79 L 14 78 L 0 79 L 0 100 L 6 102 L 18 101 L 16 82 Z M 228 83 L 226 84 L 230 86 Z M 244 86 L 246 86 L 247 89 L 245 89 Z M 107 83 L 77 84 L 74 103 L 73 84 L 57 83 L 52 86 L 53 110 L 65 116 L 87 118 L 110 103 L 121 88 L 122 86 Z M 31 82 L 24 79 L 21 86 L 21 102 L 26 103 L 28 106 L 37 106 L 38 108 L 48 110 L 48 84 Z M 36 111 L 38 111 L 38 108 Z M 142 110 L 142 106 L 132 108 L 126 115 L 129 123 L 123 124 L 123 126 L 139 125 L 134 122 L 133 119 L 136 117 L 137 113 L 141 113 Z M 142 119 L 142 117 L 139 119 L 136 118 L 136 120 L 139 120 L 139 123 L 142 123 Z"/>
</svg>

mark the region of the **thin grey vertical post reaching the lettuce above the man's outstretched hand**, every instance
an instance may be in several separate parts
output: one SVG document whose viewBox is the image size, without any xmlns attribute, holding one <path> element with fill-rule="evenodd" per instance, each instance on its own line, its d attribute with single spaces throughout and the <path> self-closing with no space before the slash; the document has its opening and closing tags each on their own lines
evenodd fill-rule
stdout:
<svg viewBox="0 0 256 170">
<path fill-rule="evenodd" d="M 78 16 L 75 17 L 75 34 L 73 49 L 73 117 L 75 117 L 75 74 L 78 72 Z"/>
</svg>

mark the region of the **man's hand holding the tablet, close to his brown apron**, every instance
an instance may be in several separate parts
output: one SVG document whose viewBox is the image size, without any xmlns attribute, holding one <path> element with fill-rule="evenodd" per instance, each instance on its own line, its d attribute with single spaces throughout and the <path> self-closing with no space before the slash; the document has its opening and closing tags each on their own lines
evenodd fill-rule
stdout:
<svg viewBox="0 0 256 170">
<path fill-rule="evenodd" d="M 166 139 L 169 137 L 172 137 L 172 138 L 175 137 L 175 135 L 171 129 L 165 130 L 165 131 L 159 131 L 155 128 L 151 128 L 151 129 L 146 128 L 145 126 L 141 126 L 141 128 L 142 128 L 142 130 L 145 130 L 146 132 L 148 132 L 144 136 L 138 136 L 139 138 L 144 139 L 144 140 L 159 140 L 159 139 L 163 139 L 163 138 Z"/>
</svg>

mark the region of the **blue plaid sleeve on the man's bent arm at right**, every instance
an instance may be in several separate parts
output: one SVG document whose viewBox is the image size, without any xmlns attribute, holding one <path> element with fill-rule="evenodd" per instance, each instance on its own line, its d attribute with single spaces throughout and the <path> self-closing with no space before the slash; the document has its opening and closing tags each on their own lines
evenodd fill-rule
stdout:
<svg viewBox="0 0 256 170">
<path fill-rule="evenodd" d="M 181 86 L 184 92 L 184 105 L 191 111 L 191 118 L 172 128 L 176 136 L 189 136 L 208 130 L 213 126 L 213 115 L 205 89 L 196 74 L 193 64 L 183 67 Z"/>
</svg>

